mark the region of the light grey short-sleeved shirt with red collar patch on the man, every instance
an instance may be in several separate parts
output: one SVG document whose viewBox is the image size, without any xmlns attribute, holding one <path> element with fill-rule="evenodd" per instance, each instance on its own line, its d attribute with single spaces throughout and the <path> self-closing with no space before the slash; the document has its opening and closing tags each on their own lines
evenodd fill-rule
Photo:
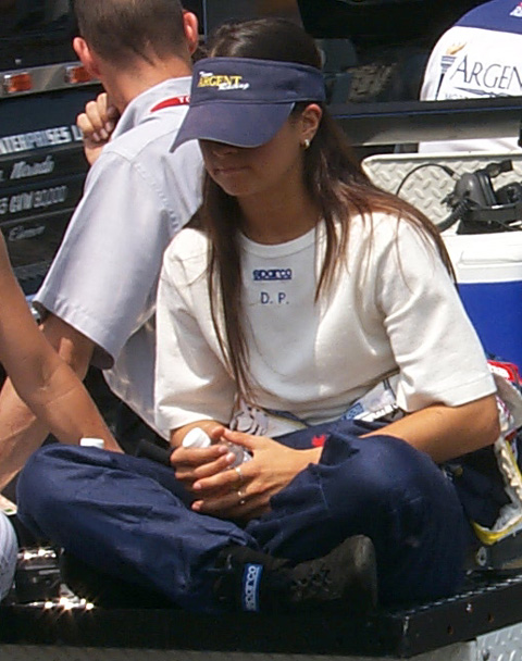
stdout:
<svg viewBox="0 0 522 661">
<path fill-rule="evenodd" d="M 92 363 L 153 428 L 154 310 L 163 251 L 200 204 L 198 144 L 170 152 L 189 90 L 189 77 L 170 79 L 125 109 L 89 171 L 35 297 L 96 344 Z M 157 431 L 167 437 L 167 431 Z"/>
</svg>

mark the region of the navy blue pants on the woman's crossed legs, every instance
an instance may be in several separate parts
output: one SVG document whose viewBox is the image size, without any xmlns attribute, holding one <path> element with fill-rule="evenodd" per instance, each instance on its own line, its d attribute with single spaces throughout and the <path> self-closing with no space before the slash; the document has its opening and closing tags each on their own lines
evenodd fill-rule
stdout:
<svg viewBox="0 0 522 661">
<path fill-rule="evenodd" d="M 382 603 L 444 597 L 463 576 L 468 523 L 453 485 L 389 436 L 334 433 L 320 463 L 246 526 L 192 512 L 190 501 L 171 467 L 96 448 L 45 447 L 18 479 L 18 516 L 35 535 L 192 611 L 214 610 L 214 562 L 232 544 L 302 561 L 368 535 Z"/>
</svg>

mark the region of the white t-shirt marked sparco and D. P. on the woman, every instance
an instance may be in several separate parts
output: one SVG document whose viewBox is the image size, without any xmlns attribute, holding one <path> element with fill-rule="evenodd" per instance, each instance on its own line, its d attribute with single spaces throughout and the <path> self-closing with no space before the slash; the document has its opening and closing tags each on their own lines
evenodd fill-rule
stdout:
<svg viewBox="0 0 522 661">
<path fill-rule="evenodd" d="M 370 222 L 355 219 L 347 264 L 318 303 L 322 226 L 278 246 L 244 238 L 241 247 L 256 406 L 319 424 L 397 371 L 405 411 L 495 391 L 453 284 L 410 224 L 397 227 L 397 219 L 376 214 L 372 232 Z M 236 413 L 236 386 L 211 322 L 207 250 L 202 233 L 184 229 L 164 257 L 156 398 L 158 424 L 171 429 L 204 419 L 228 423 Z M 270 419 L 269 434 L 294 428 L 281 423 Z"/>
</svg>

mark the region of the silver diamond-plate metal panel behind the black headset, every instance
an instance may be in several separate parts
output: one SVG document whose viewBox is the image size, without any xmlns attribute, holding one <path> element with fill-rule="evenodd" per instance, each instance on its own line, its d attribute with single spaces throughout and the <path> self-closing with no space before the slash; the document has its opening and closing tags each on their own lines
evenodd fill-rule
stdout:
<svg viewBox="0 0 522 661">
<path fill-rule="evenodd" d="M 397 192 L 411 172 L 400 190 L 400 197 L 424 212 L 431 221 L 439 223 L 449 213 L 443 200 L 455 186 L 455 180 L 439 165 L 447 165 L 461 175 L 506 159 L 512 160 L 513 171 L 493 179 L 494 188 L 500 188 L 511 182 L 522 182 L 522 152 L 376 154 L 364 159 L 362 167 L 374 184 L 391 192 Z M 420 165 L 422 167 L 412 172 Z"/>
</svg>

